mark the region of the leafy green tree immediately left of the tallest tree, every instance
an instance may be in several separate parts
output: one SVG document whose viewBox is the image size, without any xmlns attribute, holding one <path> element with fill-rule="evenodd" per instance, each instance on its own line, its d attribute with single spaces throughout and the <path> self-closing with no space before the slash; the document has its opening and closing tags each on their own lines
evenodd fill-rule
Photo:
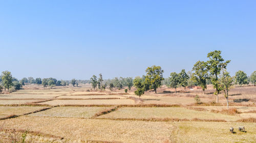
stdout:
<svg viewBox="0 0 256 143">
<path fill-rule="evenodd" d="M 195 73 L 192 74 L 193 80 L 195 80 L 198 85 L 203 89 L 204 91 L 207 89 L 206 80 L 208 79 L 208 69 L 207 69 L 207 63 L 198 61 L 194 67 L 193 71 Z"/>
</svg>

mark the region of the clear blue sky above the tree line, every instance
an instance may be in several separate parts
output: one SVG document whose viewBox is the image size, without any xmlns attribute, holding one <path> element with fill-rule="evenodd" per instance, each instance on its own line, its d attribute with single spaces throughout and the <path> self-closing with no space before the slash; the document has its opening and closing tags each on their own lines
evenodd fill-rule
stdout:
<svg viewBox="0 0 256 143">
<path fill-rule="evenodd" d="M 164 77 L 212 50 L 256 70 L 256 1 L 0 1 L 0 71 L 13 77 Z"/>
</svg>

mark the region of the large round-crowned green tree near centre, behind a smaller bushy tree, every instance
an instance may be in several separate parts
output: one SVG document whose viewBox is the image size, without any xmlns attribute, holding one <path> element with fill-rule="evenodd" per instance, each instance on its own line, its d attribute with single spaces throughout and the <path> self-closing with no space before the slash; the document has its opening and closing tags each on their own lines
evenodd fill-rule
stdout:
<svg viewBox="0 0 256 143">
<path fill-rule="evenodd" d="M 154 89 L 155 93 L 157 93 L 157 88 L 161 86 L 163 78 L 163 70 L 160 66 L 152 66 L 147 67 L 146 72 L 146 80 L 150 83 L 150 89 Z"/>
</svg>

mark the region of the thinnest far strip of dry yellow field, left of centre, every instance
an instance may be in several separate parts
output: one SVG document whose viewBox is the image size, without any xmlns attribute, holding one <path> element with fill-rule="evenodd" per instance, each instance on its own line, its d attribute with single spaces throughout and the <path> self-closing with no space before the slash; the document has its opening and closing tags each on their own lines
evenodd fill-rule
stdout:
<svg viewBox="0 0 256 143">
<path fill-rule="evenodd" d="M 92 99 L 92 98 L 120 98 L 120 99 L 125 99 L 125 97 L 118 96 L 118 95 L 67 95 L 67 96 L 59 96 L 57 99 L 61 98 L 76 98 L 76 99 Z"/>
</svg>

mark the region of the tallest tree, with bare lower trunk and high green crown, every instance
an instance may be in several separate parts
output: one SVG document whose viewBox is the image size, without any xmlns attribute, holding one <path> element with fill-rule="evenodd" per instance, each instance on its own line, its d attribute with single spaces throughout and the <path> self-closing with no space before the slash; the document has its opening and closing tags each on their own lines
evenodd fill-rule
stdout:
<svg viewBox="0 0 256 143">
<path fill-rule="evenodd" d="M 209 58 L 209 60 L 207 61 L 208 70 L 210 74 L 213 75 L 211 78 L 211 83 L 212 85 L 214 85 L 214 88 L 216 89 L 216 102 L 219 103 L 219 93 L 221 91 L 221 84 L 219 82 L 218 75 L 221 73 L 222 69 L 226 69 L 227 64 L 230 62 L 230 60 L 224 62 L 220 50 L 209 52 L 207 54 L 207 58 Z"/>
</svg>

